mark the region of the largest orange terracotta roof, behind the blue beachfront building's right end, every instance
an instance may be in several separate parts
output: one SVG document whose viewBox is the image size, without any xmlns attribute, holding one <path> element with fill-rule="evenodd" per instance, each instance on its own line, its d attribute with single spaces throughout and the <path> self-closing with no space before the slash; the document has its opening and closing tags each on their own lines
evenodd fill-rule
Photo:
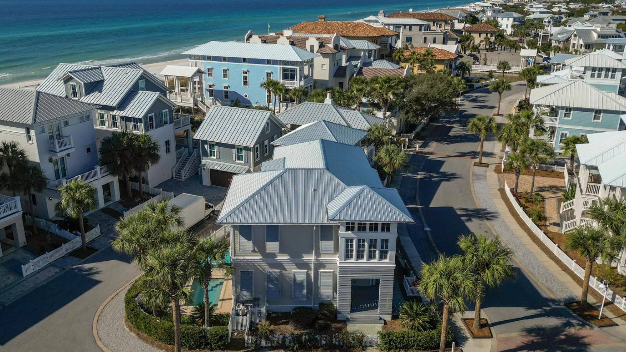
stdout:
<svg viewBox="0 0 626 352">
<path fill-rule="evenodd" d="M 291 26 L 294 33 L 339 34 L 344 37 L 382 37 L 394 36 L 396 31 L 383 27 L 370 26 L 367 23 L 351 21 L 315 21 L 300 22 Z M 280 32 L 279 32 L 280 33 Z"/>
</svg>

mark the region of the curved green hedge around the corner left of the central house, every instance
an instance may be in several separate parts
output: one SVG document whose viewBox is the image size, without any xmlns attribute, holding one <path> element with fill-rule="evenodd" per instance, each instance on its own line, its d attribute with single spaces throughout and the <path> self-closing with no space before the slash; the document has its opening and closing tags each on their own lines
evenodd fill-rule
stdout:
<svg viewBox="0 0 626 352">
<path fill-rule="evenodd" d="M 172 321 L 157 319 L 143 313 L 135 301 L 139 289 L 133 284 L 124 296 L 126 319 L 142 333 L 165 344 L 174 344 Z M 180 344 L 187 349 L 224 349 L 228 343 L 228 328 L 215 326 L 207 331 L 202 326 L 180 325 Z"/>
</svg>

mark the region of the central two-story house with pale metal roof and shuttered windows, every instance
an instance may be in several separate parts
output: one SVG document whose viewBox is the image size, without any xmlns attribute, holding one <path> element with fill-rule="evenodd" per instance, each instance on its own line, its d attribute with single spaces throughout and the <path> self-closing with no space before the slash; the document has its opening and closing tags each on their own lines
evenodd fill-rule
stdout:
<svg viewBox="0 0 626 352">
<path fill-rule="evenodd" d="M 217 222 L 230 227 L 234 303 L 331 302 L 338 319 L 391 318 L 398 224 L 413 219 L 361 147 L 275 148 L 260 171 L 233 177 Z"/>
</svg>

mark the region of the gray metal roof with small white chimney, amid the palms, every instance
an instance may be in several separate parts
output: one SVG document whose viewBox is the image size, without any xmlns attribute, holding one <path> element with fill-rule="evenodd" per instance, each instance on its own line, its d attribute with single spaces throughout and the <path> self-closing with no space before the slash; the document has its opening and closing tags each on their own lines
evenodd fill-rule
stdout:
<svg viewBox="0 0 626 352">
<path fill-rule="evenodd" d="M 342 108 L 341 106 L 327 103 L 313 103 L 305 101 L 289 110 L 279 113 L 277 117 L 285 125 L 306 125 L 310 122 L 326 120 L 339 125 L 367 130 L 372 125 L 384 123 L 384 119 L 362 113 L 361 111 Z"/>
</svg>

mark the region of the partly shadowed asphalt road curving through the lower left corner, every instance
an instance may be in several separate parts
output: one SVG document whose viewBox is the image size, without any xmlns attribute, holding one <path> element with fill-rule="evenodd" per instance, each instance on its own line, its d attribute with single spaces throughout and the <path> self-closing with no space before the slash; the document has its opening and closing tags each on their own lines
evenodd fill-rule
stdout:
<svg viewBox="0 0 626 352">
<path fill-rule="evenodd" d="M 101 351 L 96 310 L 138 274 L 130 258 L 103 249 L 0 309 L 0 351 Z"/>
</svg>

